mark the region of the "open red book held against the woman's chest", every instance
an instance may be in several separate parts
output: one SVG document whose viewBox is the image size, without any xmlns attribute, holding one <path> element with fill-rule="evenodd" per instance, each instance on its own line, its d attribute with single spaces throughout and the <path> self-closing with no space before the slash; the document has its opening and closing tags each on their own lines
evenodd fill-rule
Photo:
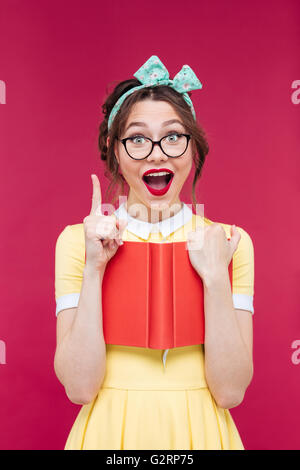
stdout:
<svg viewBox="0 0 300 470">
<path fill-rule="evenodd" d="M 232 287 L 232 261 L 228 270 Z M 186 241 L 125 241 L 105 270 L 102 311 L 107 344 L 154 349 L 203 344 L 203 283 Z"/>
</svg>

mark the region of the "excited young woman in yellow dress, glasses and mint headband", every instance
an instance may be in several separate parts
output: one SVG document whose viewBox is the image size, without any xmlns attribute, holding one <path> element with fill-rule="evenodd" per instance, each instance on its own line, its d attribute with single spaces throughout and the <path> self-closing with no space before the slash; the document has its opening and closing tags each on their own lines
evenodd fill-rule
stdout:
<svg viewBox="0 0 300 470">
<path fill-rule="evenodd" d="M 69 399 L 83 405 L 65 449 L 243 449 L 229 409 L 242 402 L 253 374 L 252 240 L 180 199 L 194 165 L 195 203 L 208 153 L 186 92 L 201 88 L 193 71 L 184 66 L 169 80 L 152 56 L 135 77 L 107 98 L 99 137 L 106 174 L 122 192 L 128 185 L 128 198 L 103 215 L 92 175 L 90 214 L 67 225 L 56 243 L 55 371 Z M 122 241 L 186 241 L 203 282 L 205 346 L 105 343 L 101 286 Z"/>
</svg>

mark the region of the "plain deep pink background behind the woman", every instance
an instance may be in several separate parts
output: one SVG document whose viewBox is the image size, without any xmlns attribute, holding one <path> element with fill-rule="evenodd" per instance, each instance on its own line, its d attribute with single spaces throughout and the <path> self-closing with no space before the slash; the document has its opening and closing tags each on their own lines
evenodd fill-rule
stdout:
<svg viewBox="0 0 300 470">
<path fill-rule="evenodd" d="M 300 449 L 299 0 L 0 4 L 0 448 L 61 449 L 80 407 L 55 377 L 54 248 L 81 223 L 107 84 L 156 54 L 189 64 L 210 153 L 198 202 L 255 248 L 255 374 L 232 410 L 248 449 Z M 190 203 L 190 183 L 182 199 Z"/>
</svg>

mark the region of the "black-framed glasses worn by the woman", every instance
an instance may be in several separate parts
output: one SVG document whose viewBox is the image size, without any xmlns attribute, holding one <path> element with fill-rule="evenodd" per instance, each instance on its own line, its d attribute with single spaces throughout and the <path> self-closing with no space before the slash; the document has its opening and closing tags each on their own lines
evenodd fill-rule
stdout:
<svg viewBox="0 0 300 470">
<path fill-rule="evenodd" d="M 167 157 L 181 157 L 189 145 L 190 138 L 191 136 L 189 134 L 174 132 L 157 141 L 143 135 L 135 135 L 134 137 L 126 137 L 125 139 L 118 140 L 124 145 L 129 157 L 134 160 L 144 160 L 149 157 L 156 144 Z"/>
</svg>

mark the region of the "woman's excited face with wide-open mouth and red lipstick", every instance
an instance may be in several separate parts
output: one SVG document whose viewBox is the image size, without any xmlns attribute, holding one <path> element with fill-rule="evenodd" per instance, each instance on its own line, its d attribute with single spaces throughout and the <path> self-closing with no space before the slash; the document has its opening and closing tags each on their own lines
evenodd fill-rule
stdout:
<svg viewBox="0 0 300 470">
<path fill-rule="evenodd" d="M 168 121 L 173 122 L 169 123 Z M 131 108 L 123 135 L 119 138 L 124 139 L 138 135 L 158 141 L 164 136 L 172 135 L 172 133 L 187 133 L 182 120 L 173 107 L 165 101 L 144 100 L 139 101 Z M 176 139 L 174 135 L 168 138 L 171 144 L 174 144 Z M 141 142 L 144 142 L 143 138 L 142 140 L 137 138 L 135 141 L 138 144 Z M 119 162 L 120 173 L 123 174 L 130 188 L 127 209 L 132 204 L 143 204 L 154 211 L 162 211 L 171 208 L 173 204 L 178 204 L 178 206 L 174 206 L 177 207 L 174 213 L 181 208 L 179 194 L 193 163 L 191 141 L 184 154 L 177 158 L 169 158 L 158 145 L 155 145 L 147 158 L 134 160 L 129 157 L 123 144 L 119 141 L 115 143 L 115 155 Z M 150 186 L 149 189 L 143 175 L 146 171 L 162 168 L 173 173 L 171 183 L 164 194 L 153 194 L 151 187 L 154 188 L 153 192 L 163 192 L 161 189 L 166 187 L 169 178 L 165 176 L 146 178 L 146 182 Z"/>
</svg>

